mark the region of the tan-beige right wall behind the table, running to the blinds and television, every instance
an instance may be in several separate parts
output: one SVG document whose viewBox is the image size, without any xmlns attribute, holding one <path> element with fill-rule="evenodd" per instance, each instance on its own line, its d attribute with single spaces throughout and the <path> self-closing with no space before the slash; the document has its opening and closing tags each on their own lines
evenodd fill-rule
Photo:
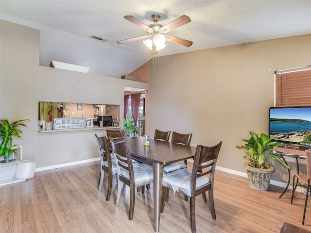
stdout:
<svg viewBox="0 0 311 233">
<path fill-rule="evenodd" d="M 223 141 L 217 165 L 245 172 L 235 146 L 249 131 L 268 133 L 274 71 L 311 65 L 311 34 L 157 57 L 154 64 L 150 135 L 155 129 L 193 133 L 193 146 Z M 276 168 L 272 179 L 286 180 L 287 171 Z"/>
</svg>

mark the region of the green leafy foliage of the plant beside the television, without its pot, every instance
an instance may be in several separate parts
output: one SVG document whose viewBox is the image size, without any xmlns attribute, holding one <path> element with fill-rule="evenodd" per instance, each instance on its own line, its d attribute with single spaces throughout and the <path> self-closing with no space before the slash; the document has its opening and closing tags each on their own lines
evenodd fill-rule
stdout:
<svg viewBox="0 0 311 233">
<path fill-rule="evenodd" d="M 260 137 L 257 133 L 249 132 L 251 134 L 250 139 L 242 139 L 246 142 L 244 146 L 236 146 L 236 148 L 243 149 L 247 152 L 244 158 L 249 157 L 248 166 L 256 168 L 270 168 L 267 164 L 267 157 L 276 159 L 282 166 L 291 169 L 281 160 L 281 155 L 274 153 L 273 148 L 280 146 L 281 143 L 272 141 L 273 138 L 269 138 L 268 135 L 261 133 Z"/>
</svg>

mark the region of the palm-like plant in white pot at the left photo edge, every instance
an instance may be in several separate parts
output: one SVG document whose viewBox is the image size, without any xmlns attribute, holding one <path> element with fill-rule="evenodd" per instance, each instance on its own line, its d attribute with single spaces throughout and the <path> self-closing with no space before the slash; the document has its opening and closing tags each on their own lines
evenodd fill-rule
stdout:
<svg viewBox="0 0 311 233">
<path fill-rule="evenodd" d="M 27 127 L 24 124 L 24 121 L 27 120 L 28 119 L 17 120 L 11 124 L 8 120 L 0 121 L 0 138 L 2 139 L 0 144 L 0 157 L 4 156 L 3 161 L 0 161 L 0 183 L 10 182 L 15 178 L 16 167 L 19 163 L 19 160 L 9 160 L 9 157 L 12 153 L 17 154 L 16 150 L 18 145 L 12 145 L 13 136 L 21 137 L 19 134 L 22 132 L 19 127 Z"/>
</svg>

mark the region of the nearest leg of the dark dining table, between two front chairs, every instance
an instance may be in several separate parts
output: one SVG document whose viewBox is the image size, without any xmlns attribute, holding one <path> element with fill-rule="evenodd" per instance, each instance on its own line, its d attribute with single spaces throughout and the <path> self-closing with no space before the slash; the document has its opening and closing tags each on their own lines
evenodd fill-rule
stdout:
<svg viewBox="0 0 311 233">
<path fill-rule="evenodd" d="M 154 223 L 155 232 L 158 232 L 160 227 L 160 210 L 163 188 L 163 164 L 153 163 L 152 166 L 154 168 Z"/>
</svg>

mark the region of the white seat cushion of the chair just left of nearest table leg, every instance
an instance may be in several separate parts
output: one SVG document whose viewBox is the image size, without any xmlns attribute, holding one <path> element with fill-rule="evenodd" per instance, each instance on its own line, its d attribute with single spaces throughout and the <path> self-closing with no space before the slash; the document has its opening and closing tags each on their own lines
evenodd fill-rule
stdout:
<svg viewBox="0 0 311 233">
<path fill-rule="evenodd" d="M 138 164 L 133 166 L 135 186 L 140 187 L 149 183 L 153 183 L 154 175 L 153 168 L 147 164 Z M 129 173 L 125 169 L 121 169 L 121 176 L 129 180 Z"/>
</svg>

